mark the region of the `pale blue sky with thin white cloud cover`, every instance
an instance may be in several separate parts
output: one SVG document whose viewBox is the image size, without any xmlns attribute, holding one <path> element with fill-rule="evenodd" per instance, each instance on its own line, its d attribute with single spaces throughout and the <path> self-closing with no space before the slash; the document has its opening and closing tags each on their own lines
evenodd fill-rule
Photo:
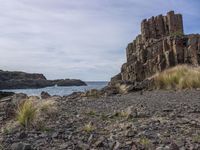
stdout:
<svg viewBox="0 0 200 150">
<path fill-rule="evenodd" d="M 0 69 L 109 81 L 140 22 L 170 10 L 200 33 L 199 0 L 0 0 Z"/>
</svg>

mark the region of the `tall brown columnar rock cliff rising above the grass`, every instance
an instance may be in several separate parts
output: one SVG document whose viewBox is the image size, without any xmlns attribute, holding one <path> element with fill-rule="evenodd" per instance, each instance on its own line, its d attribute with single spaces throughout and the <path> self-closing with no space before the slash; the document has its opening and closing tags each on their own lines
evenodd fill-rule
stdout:
<svg viewBox="0 0 200 150">
<path fill-rule="evenodd" d="M 111 79 L 141 82 L 156 72 L 177 64 L 200 64 L 200 35 L 184 35 L 182 15 L 173 11 L 141 23 L 141 34 L 126 49 L 127 62 Z"/>
</svg>

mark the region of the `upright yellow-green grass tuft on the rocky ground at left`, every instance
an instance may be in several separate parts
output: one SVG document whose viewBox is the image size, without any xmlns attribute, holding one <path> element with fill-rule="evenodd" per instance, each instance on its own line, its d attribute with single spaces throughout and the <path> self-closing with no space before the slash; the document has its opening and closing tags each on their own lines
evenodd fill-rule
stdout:
<svg viewBox="0 0 200 150">
<path fill-rule="evenodd" d="M 31 125 L 36 117 L 37 109 L 33 105 L 33 102 L 30 100 L 24 101 L 19 105 L 17 110 L 17 121 L 23 127 L 28 127 Z"/>
</svg>

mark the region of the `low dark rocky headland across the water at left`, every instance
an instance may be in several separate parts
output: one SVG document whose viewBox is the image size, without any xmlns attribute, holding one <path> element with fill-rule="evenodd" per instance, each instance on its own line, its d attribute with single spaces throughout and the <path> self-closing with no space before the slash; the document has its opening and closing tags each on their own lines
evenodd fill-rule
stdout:
<svg viewBox="0 0 200 150">
<path fill-rule="evenodd" d="M 54 85 L 81 86 L 86 83 L 76 79 L 47 80 L 43 74 L 0 71 L 0 89 L 43 88 Z"/>
</svg>

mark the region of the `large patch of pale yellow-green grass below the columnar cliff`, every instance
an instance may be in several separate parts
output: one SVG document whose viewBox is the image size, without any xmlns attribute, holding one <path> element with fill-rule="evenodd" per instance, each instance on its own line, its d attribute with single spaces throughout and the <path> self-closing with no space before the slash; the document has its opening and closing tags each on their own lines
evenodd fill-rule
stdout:
<svg viewBox="0 0 200 150">
<path fill-rule="evenodd" d="M 200 88 L 200 68 L 179 65 L 158 73 L 154 83 L 156 89 Z"/>
</svg>

